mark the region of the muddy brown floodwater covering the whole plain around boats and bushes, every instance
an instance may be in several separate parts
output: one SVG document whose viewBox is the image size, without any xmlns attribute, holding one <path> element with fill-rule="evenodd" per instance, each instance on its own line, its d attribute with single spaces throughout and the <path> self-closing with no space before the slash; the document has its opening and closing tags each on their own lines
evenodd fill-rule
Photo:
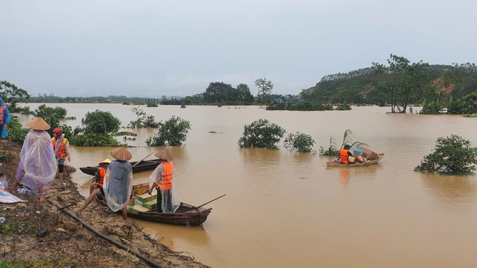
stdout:
<svg viewBox="0 0 477 268">
<path fill-rule="evenodd" d="M 37 104 L 29 104 L 36 108 Z M 121 104 L 47 104 L 67 108 L 81 124 L 87 111 L 111 111 L 126 126 L 135 114 Z M 191 121 L 184 146 L 168 148 L 182 202 L 210 204 L 203 228 L 147 223 L 175 251 L 212 267 L 476 267 L 476 176 L 436 176 L 412 169 L 438 136 L 459 134 L 477 146 L 477 119 L 453 115 L 385 115 L 389 108 L 352 111 L 264 111 L 256 106 L 159 106 L 144 110 Z M 22 116 L 28 120 L 28 116 Z M 288 132 L 311 134 L 315 149 L 354 129 L 379 164 L 326 167 L 327 157 L 238 148 L 243 125 L 266 118 Z M 145 146 L 156 129 L 135 129 Z M 215 131 L 217 134 L 208 133 Z M 160 148 L 131 148 L 140 160 Z M 74 167 L 94 165 L 111 148 L 72 147 Z M 134 174 L 148 181 L 149 172 Z M 83 195 L 90 176 L 74 175 Z"/>
</svg>

